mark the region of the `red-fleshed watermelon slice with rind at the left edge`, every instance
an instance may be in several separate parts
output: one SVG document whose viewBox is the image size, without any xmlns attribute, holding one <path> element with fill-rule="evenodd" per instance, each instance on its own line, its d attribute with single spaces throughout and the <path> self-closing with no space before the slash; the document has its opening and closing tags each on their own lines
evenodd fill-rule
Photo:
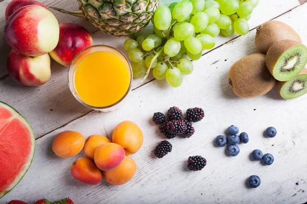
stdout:
<svg viewBox="0 0 307 204">
<path fill-rule="evenodd" d="M 34 150 L 35 137 L 28 121 L 0 101 L 0 198 L 24 177 Z"/>
</svg>

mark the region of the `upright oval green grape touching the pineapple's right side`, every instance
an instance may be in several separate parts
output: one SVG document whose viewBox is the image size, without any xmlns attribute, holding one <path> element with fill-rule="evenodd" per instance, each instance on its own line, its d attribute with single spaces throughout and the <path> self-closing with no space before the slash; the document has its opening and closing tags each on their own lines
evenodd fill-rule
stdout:
<svg viewBox="0 0 307 204">
<path fill-rule="evenodd" d="M 171 13 L 167 6 L 160 6 L 155 12 L 154 21 L 158 30 L 167 30 L 171 22 Z"/>
</svg>

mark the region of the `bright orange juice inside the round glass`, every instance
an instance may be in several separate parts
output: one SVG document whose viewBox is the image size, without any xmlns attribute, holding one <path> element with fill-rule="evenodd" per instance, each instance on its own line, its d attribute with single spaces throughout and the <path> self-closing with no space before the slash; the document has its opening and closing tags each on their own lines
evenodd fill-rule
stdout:
<svg viewBox="0 0 307 204">
<path fill-rule="evenodd" d="M 76 64 L 74 87 L 87 105 L 106 107 L 115 104 L 127 92 L 131 73 L 123 56 L 107 51 L 85 55 Z"/>
</svg>

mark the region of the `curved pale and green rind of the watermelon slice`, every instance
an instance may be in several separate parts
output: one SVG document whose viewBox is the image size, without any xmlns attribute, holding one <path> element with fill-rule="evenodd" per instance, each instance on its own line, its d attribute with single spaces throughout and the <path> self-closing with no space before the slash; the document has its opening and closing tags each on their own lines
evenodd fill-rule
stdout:
<svg viewBox="0 0 307 204">
<path fill-rule="evenodd" d="M 3 101 L 0 101 L 0 107 L 4 107 L 8 110 L 11 110 L 12 114 L 14 114 L 18 119 L 20 119 L 20 121 L 23 121 L 23 123 L 28 127 L 28 129 L 31 133 L 31 138 L 32 138 L 32 151 L 31 151 L 31 154 L 30 154 L 29 161 L 28 161 L 27 165 L 25 166 L 25 170 L 20 173 L 20 175 L 16 178 L 16 180 L 11 184 L 11 186 L 9 186 L 9 188 L 6 191 L 4 191 L 3 193 L 0 193 L 0 198 L 2 198 L 8 192 L 10 192 L 21 181 L 21 179 L 23 179 L 23 177 L 27 173 L 29 167 L 31 166 L 31 163 L 32 163 L 32 160 L 33 160 L 33 157 L 34 157 L 34 152 L 35 152 L 35 136 L 34 136 L 34 132 L 33 132 L 33 129 L 31 127 L 30 123 L 16 109 L 14 109 L 10 105 L 4 103 Z"/>
</svg>

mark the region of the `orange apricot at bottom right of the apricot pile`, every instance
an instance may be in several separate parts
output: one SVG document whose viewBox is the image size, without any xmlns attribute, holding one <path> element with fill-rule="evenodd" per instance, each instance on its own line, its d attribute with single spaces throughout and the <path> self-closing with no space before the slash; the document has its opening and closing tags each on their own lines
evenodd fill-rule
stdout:
<svg viewBox="0 0 307 204">
<path fill-rule="evenodd" d="M 124 161 L 115 169 L 104 171 L 103 175 L 109 184 L 122 185 L 130 181 L 137 171 L 137 164 L 126 156 Z"/>
</svg>

